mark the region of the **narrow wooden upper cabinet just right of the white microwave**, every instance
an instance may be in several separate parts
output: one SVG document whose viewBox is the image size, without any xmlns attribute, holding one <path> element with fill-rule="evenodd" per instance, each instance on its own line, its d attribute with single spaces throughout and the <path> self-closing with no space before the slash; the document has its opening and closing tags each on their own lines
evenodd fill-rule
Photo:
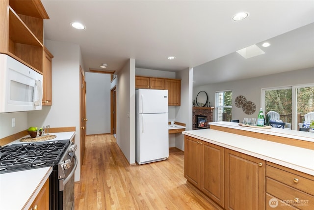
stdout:
<svg viewBox="0 0 314 210">
<path fill-rule="evenodd" d="M 44 47 L 43 106 L 52 105 L 52 54 Z"/>
</svg>

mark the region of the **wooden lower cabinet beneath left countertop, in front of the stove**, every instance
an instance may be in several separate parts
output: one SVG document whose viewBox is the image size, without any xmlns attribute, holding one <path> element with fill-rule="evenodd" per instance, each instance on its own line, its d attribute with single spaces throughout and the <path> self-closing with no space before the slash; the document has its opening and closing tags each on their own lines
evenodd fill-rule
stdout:
<svg viewBox="0 0 314 210">
<path fill-rule="evenodd" d="M 49 210 L 49 178 L 28 210 Z"/>
</svg>

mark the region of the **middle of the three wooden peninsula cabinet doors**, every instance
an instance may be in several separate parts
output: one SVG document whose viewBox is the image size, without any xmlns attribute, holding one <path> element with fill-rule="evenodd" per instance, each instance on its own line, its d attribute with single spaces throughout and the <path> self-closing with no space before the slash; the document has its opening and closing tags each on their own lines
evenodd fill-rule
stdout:
<svg viewBox="0 0 314 210">
<path fill-rule="evenodd" d="M 201 141 L 201 190 L 224 206 L 224 148 Z"/>
</svg>

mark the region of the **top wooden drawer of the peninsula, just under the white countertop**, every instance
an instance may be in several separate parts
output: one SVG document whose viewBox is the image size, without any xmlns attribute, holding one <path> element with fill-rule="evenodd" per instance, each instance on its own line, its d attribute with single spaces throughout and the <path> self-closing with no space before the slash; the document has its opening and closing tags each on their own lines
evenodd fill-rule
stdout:
<svg viewBox="0 0 314 210">
<path fill-rule="evenodd" d="M 297 174 L 292 174 L 268 165 L 266 165 L 266 177 L 314 195 L 314 180 L 309 180 Z"/>
</svg>

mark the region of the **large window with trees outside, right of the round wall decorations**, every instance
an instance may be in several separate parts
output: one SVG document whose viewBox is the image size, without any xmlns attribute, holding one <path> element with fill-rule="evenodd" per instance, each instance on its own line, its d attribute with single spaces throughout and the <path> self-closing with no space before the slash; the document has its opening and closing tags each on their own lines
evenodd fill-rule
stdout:
<svg viewBox="0 0 314 210">
<path fill-rule="evenodd" d="M 275 111 L 280 120 L 298 130 L 304 115 L 314 112 L 314 84 L 262 89 L 262 104 L 265 115 Z"/>
</svg>

